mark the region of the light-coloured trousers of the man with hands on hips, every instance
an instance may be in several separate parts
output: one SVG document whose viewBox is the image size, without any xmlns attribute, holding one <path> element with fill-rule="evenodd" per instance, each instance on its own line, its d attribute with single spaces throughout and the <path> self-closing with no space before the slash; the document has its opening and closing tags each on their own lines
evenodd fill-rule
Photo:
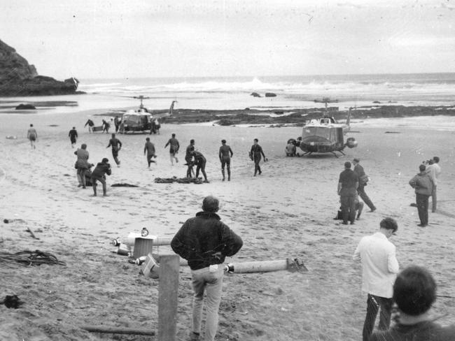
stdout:
<svg viewBox="0 0 455 341">
<path fill-rule="evenodd" d="M 218 264 L 218 269 L 211 273 L 209 267 L 198 270 L 191 270 L 193 277 L 193 333 L 200 333 L 202 322 L 202 305 L 204 304 L 204 291 L 207 292 L 205 309 L 207 310 L 207 321 L 205 321 L 205 341 L 215 339 L 218 329 L 218 308 L 221 302 L 221 291 L 223 290 L 223 264 Z"/>
</svg>

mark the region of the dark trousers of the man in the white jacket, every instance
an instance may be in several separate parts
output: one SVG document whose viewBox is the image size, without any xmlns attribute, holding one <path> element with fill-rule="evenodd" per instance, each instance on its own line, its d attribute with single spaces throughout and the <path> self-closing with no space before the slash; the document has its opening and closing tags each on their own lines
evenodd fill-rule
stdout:
<svg viewBox="0 0 455 341">
<path fill-rule="evenodd" d="M 367 316 L 365 317 L 365 324 L 363 324 L 363 341 L 368 341 L 370 339 L 379 307 L 381 308 L 381 313 L 379 314 L 379 330 L 388 330 L 390 327 L 392 304 L 392 298 L 374 296 L 368 293 Z"/>
</svg>

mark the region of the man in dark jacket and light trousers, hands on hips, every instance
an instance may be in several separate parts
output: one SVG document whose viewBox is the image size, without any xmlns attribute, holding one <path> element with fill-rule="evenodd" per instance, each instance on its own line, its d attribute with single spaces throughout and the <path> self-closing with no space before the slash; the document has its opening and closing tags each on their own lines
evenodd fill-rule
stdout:
<svg viewBox="0 0 455 341">
<path fill-rule="evenodd" d="M 190 340 L 202 340 L 201 320 L 204 291 L 207 292 L 205 341 L 215 339 L 218 328 L 218 309 L 223 290 L 223 263 L 226 256 L 234 256 L 243 242 L 226 224 L 221 222 L 219 202 L 214 196 L 202 201 L 202 212 L 188 219 L 176 233 L 171 247 L 188 260 L 193 286 L 193 323 Z"/>
</svg>

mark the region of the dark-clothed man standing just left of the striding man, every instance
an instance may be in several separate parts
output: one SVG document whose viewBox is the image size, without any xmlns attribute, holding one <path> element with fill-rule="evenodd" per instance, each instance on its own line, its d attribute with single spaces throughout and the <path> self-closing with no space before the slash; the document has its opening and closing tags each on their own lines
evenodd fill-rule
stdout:
<svg viewBox="0 0 455 341">
<path fill-rule="evenodd" d="M 358 177 L 351 170 L 351 162 L 344 163 L 344 170 L 339 173 L 338 195 L 342 206 L 343 224 L 347 225 L 348 220 L 351 225 L 356 220 L 356 195 L 358 187 Z"/>
</svg>

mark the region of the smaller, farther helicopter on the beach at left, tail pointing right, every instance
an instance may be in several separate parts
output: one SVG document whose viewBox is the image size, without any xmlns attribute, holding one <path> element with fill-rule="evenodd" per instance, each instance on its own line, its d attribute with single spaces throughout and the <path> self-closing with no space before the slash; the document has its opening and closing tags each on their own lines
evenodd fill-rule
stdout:
<svg viewBox="0 0 455 341">
<path fill-rule="evenodd" d="M 126 113 L 122 115 L 122 122 L 120 123 L 120 133 L 128 133 L 134 131 L 150 131 L 152 129 L 152 122 L 162 117 L 169 117 L 173 114 L 174 103 L 177 101 L 172 101 L 169 111 L 165 113 L 149 113 L 149 110 L 144 107 L 144 99 L 151 99 L 151 97 L 146 96 L 126 96 L 132 99 L 139 99 L 141 104 L 136 110 L 127 110 Z"/>
</svg>

